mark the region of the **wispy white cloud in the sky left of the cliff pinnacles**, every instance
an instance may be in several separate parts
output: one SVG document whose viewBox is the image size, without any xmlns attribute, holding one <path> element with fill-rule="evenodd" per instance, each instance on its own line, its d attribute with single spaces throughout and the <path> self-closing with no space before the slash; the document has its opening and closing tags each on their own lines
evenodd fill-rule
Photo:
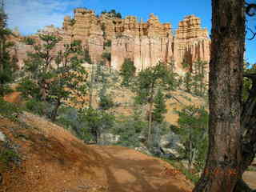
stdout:
<svg viewBox="0 0 256 192">
<path fill-rule="evenodd" d="M 33 34 L 44 26 L 61 27 L 63 18 L 74 8 L 83 6 L 82 0 L 7 0 L 8 27 L 22 34 Z"/>
</svg>

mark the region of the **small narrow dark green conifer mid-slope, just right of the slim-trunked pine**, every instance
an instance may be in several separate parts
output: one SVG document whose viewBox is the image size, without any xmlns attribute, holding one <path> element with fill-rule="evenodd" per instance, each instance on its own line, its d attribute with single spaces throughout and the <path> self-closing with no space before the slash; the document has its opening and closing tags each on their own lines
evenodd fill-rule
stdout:
<svg viewBox="0 0 256 192">
<path fill-rule="evenodd" d="M 161 123 L 164 120 L 163 114 L 166 114 L 166 102 L 165 95 L 162 94 L 162 90 L 158 89 L 158 93 L 154 97 L 154 110 L 152 113 L 152 119 L 154 122 Z"/>
</svg>

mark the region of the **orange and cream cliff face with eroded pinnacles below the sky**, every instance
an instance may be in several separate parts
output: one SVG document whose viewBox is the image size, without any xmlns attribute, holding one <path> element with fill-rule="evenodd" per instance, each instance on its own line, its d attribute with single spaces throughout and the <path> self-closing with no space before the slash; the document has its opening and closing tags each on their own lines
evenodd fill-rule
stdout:
<svg viewBox="0 0 256 192">
<path fill-rule="evenodd" d="M 102 14 L 96 17 L 92 10 L 76 9 L 73 19 L 64 18 L 62 29 L 47 26 L 39 33 L 48 32 L 63 38 L 56 50 L 63 49 L 65 43 L 74 39 L 81 40 L 93 62 L 101 61 L 103 52 L 110 52 L 110 65 L 116 70 L 120 70 L 125 58 L 131 58 L 138 71 L 161 61 L 174 62 L 176 72 L 184 74 L 182 62 L 192 68 L 192 63 L 198 59 L 210 60 L 210 38 L 207 30 L 202 29 L 200 18 L 194 15 L 184 18 L 172 34 L 170 23 L 160 23 L 154 14 L 150 14 L 147 22 L 138 22 L 134 16 L 122 19 Z M 111 47 L 104 46 L 108 40 Z M 20 61 L 26 58 L 27 50 L 31 50 L 30 46 L 18 44 Z M 22 66 L 22 62 L 19 65 Z"/>
</svg>

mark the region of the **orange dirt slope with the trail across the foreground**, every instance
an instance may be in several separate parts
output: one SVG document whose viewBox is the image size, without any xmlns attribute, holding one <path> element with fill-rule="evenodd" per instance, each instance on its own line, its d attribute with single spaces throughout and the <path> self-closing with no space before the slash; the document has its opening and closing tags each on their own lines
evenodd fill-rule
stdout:
<svg viewBox="0 0 256 192">
<path fill-rule="evenodd" d="M 193 187 L 158 158 L 121 146 L 87 146 L 34 114 L 24 113 L 18 119 L 0 118 L 0 132 L 7 138 L 0 139 L 0 149 L 18 152 L 8 166 L 0 162 L 1 192 L 185 192 Z"/>
</svg>

